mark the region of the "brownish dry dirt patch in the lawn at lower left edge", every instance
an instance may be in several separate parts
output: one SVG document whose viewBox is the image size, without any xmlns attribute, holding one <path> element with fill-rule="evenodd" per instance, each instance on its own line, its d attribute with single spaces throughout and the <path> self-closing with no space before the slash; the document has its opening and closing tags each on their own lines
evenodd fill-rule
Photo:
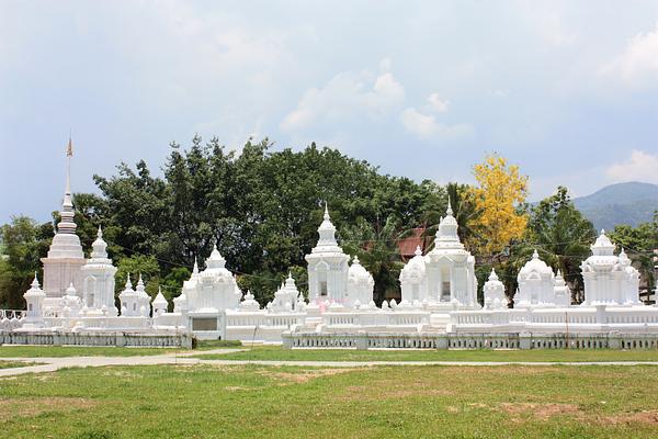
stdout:
<svg viewBox="0 0 658 439">
<path fill-rule="evenodd" d="M 0 421 L 7 421 L 15 416 L 32 417 L 46 412 L 65 413 L 91 408 L 95 405 L 95 401 L 81 397 L 0 398 Z"/>
</svg>

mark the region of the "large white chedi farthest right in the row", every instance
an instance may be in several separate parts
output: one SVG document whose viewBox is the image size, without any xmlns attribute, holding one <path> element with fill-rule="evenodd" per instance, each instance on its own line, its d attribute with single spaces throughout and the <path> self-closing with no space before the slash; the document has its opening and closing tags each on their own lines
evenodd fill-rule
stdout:
<svg viewBox="0 0 658 439">
<path fill-rule="evenodd" d="M 639 302 L 639 272 L 622 250 L 614 255 L 614 244 L 605 230 L 590 247 L 592 256 L 580 266 L 585 281 L 583 305 L 637 305 Z"/>
</svg>

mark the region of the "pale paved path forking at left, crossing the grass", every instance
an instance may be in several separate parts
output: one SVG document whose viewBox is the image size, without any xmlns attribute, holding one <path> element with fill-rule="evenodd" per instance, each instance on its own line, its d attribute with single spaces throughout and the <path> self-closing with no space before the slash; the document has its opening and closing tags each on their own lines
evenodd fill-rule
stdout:
<svg viewBox="0 0 658 439">
<path fill-rule="evenodd" d="M 0 378 L 24 373 L 55 372 L 65 368 L 98 368 L 103 365 L 152 365 L 152 364 L 260 364 L 297 365 L 320 368 L 354 368 L 372 365 L 658 365 L 658 361 L 264 361 L 264 360 L 202 360 L 193 356 L 230 353 L 245 349 L 213 349 L 184 353 L 164 353 L 146 357 L 64 357 L 64 358 L 2 358 L 2 361 L 42 363 L 24 368 L 0 369 Z"/>
</svg>

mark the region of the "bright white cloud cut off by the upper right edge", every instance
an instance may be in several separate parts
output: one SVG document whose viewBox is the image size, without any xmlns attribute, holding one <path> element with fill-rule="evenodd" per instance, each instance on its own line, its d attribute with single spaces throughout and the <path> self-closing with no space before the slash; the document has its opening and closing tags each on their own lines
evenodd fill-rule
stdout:
<svg viewBox="0 0 658 439">
<path fill-rule="evenodd" d="M 658 23 L 653 32 L 640 33 L 628 41 L 622 55 L 601 68 L 602 74 L 619 75 L 625 82 L 638 86 L 658 80 Z"/>
</svg>

